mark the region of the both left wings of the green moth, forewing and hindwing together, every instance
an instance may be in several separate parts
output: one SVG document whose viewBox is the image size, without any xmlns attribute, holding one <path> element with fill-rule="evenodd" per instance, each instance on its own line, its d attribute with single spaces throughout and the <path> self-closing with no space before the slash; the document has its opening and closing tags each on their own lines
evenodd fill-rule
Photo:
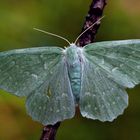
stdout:
<svg viewBox="0 0 140 140">
<path fill-rule="evenodd" d="M 44 125 L 73 117 L 63 49 L 40 47 L 0 53 L 0 88 L 27 96 L 28 114 Z"/>
</svg>

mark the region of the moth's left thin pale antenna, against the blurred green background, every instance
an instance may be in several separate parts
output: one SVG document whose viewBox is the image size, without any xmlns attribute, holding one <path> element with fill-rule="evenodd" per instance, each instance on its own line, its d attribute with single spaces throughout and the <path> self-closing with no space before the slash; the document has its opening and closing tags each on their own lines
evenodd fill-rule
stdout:
<svg viewBox="0 0 140 140">
<path fill-rule="evenodd" d="M 51 36 L 55 36 L 57 38 L 60 38 L 60 39 L 63 39 L 65 40 L 69 45 L 71 44 L 70 41 L 60 35 L 57 35 L 57 34 L 54 34 L 54 33 L 51 33 L 51 32 L 47 32 L 47 31 L 44 31 L 44 30 L 41 30 L 41 29 L 38 29 L 38 28 L 33 28 L 34 30 L 36 31 L 39 31 L 39 32 L 42 32 L 42 33 L 45 33 L 45 34 L 48 34 L 48 35 L 51 35 Z"/>
</svg>

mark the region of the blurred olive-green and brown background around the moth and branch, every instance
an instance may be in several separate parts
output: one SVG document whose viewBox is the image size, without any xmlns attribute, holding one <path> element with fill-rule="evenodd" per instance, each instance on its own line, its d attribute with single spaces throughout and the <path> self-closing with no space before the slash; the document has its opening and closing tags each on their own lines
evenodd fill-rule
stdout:
<svg viewBox="0 0 140 140">
<path fill-rule="evenodd" d="M 91 0 L 0 1 L 0 51 L 66 42 L 34 31 L 41 28 L 74 41 Z M 140 38 L 140 0 L 108 0 L 96 41 Z M 64 121 L 57 140 L 140 140 L 140 86 L 128 90 L 129 107 L 112 123 L 82 118 Z M 38 140 L 42 125 L 26 114 L 25 99 L 0 91 L 0 140 Z"/>
</svg>

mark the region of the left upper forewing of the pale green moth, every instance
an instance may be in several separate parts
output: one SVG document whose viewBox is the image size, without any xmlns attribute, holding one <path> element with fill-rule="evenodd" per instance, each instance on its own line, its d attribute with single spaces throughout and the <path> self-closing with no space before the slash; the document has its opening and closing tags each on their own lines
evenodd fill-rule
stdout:
<svg viewBox="0 0 140 140">
<path fill-rule="evenodd" d="M 28 96 L 47 79 L 62 57 L 58 47 L 40 47 L 0 52 L 0 89 Z"/>
</svg>

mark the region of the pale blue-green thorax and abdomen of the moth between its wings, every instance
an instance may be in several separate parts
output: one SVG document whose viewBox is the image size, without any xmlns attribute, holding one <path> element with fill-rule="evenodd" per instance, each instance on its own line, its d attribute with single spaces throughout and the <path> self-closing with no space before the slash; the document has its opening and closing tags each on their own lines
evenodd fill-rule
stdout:
<svg viewBox="0 0 140 140">
<path fill-rule="evenodd" d="M 79 59 L 79 48 L 74 45 L 70 46 L 67 49 L 66 60 L 72 93 L 75 98 L 75 103 L 77 104 L 79 102 L 81 87 L 81 61 Z"/>
</svg>

